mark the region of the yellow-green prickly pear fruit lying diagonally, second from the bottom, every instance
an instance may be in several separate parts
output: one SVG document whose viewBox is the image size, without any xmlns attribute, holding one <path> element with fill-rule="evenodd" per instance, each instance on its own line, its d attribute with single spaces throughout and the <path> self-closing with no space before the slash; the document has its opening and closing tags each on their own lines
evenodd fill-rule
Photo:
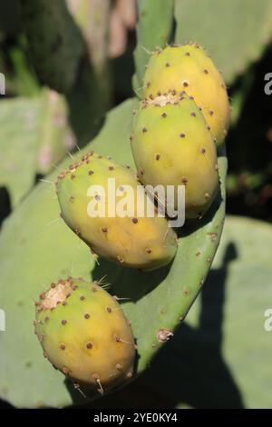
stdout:
<svg viewBox="0 0 272 427">
<path fill-rule="evenodd" d="M 91 188 L 97 188 L 97 191 L 91 194 Z M 125 166 L 101 155 L 86 154 L 79 163 L 72 164 L 67 172 L 59 175 L 56 189 L 63 220 L 91 247 L 92 252 L 142 270 L 159 268 L 174 257 L 176 233 L 156 212 L 153 217 L 137 215 L 138 201 L 146 203 L 148 196 L 136 176 Z M 140 198 L 139 190 L 144 194 Z M 121 217 L 118 207 L 124 197 L 128 211 Z M 97 216 L 90 215 L 91 204 Z M 112 213 L 109 213 L 109 207 Z"/>
</svg>

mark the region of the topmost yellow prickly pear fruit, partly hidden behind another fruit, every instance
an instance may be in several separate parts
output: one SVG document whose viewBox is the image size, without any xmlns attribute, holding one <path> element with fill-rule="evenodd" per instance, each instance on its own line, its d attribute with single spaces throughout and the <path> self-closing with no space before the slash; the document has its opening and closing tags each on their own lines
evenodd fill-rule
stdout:
<svg viewBox="0 0 272 427">
<path fill-rule="evenodd" d="M 228 131 L 230 109 L 222 75 L 197 44 L 171 45 L 151 55 L 144 75 L 143 97 L 170 91 L 193 96 L 218 145 Z"/>
</svg>

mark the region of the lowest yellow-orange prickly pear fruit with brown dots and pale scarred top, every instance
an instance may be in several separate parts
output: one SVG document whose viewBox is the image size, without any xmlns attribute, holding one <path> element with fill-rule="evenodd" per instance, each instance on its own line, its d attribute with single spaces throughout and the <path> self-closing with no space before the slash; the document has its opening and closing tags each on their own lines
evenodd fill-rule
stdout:
<svg viewBox="0 0 272 427">
<path fill-rule="evenodd" d="M 98 392 L 128 380 L 134 338 L 115 297 L 98 283 L 60 280 L 36 303 L 35 333 L 53 366 Z"/>
</svg>

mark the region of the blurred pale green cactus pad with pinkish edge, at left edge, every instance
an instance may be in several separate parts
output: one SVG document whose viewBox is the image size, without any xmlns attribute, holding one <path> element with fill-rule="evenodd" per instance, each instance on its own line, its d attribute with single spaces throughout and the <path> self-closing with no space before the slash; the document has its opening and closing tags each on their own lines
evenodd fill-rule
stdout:
<svg viewBox="0 0 272 427">
<path fill-rule="evenodd" d="M 6 186 L 13 207 L 32 188 L 36 174 L 48 174 L 73 148 L 74 136 L 66 114 L 62 95 L 49 89 L 33 98 L 1 101 L 0 186 Z"/>
</svg>

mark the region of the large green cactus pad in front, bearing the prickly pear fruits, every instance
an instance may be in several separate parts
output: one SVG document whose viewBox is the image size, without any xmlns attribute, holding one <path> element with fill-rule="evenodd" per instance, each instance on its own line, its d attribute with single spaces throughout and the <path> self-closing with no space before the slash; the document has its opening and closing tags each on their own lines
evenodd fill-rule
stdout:
<svg viewBox="0 0 272 427">
<path fill-rule="evenodd" d="M 132 165 L 129 135 L 136 106 L 137 101 L 130 100 L 114 109 L 87 150 L 97 150 L 112 155 L 121 164 Z M 65 162 L 63 168 L 68 164 Z M 0 305 L 6 313 L 6 331 L 0 334 L 3 399 L 19 407 L 63 407 L 74 400 L 84 402 L 79 392 L 72 392 L 69 384 L 63 382 L 63 374 L 53 370 L 44 359 L 32 333 L 36 295 L 46 290 L 47 283 L 63 276 L 83 276 L 90 282 L 90 275 L 99 280 L 106 274 L 106 280 L 112 283 L 111 293 L 129 298 L 123 301 L 122 308 L 131 320 L 138 346 L 136 372 L 146 369 L 186 316 L 209 272 L 224 221 L 226 168 L 226 158 L 220 156 L 223 201 L 211 209 L 197 228 L 191 224 L 182 229 L 174 262 L 152 273 L 102 260 L 95 263 L 88 247 L 57 219 L 59 205 L 53 186 L 37 185 L 5 221 L 0 236 Z M 56 174 L 52 174 L 48 180 L 53 182 L 55 178 Z M 22 383 L 27 384 L 27 393 Z"/>
</svg>

